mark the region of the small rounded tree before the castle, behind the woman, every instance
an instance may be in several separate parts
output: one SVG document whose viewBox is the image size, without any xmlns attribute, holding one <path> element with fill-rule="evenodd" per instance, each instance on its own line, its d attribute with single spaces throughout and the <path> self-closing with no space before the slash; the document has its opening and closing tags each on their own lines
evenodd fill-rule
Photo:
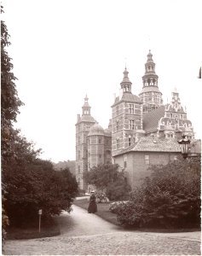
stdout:
<svg viewBox="0 0 202 256">
<path fill-rule="evenodd" d="M 99 190 L 105 190 L 110 201 L 122 200 L 130 192 L 130 185 L 124 175 L 124 171 L 118 172 L 118 165 L 105 164 L 94 166 L 85 173 L 87 183 L 95 185 Z"/>
</svg>

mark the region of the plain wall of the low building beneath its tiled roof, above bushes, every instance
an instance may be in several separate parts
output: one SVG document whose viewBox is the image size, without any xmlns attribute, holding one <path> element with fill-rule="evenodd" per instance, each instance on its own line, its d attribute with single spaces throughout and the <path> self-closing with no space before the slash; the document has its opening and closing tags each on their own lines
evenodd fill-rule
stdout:
<svg viewBox="0 0 202 256">
<path fill-rule="evenodd" d="M 132 188 L 140 186 L 144 177 L 151 175 L 147 170 L 152 165 L 166 165 L 181 153 L 130 152 L 114 157 L 114 163 L 124 169 Z M 126 162 L 126 163 L 125 163 Z"/>
</svg>

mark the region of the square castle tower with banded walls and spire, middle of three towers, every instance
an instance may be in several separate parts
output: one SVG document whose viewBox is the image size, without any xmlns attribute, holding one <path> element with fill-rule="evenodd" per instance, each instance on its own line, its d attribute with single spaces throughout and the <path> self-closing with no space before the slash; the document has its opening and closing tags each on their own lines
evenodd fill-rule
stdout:
<svg viewBox="0 0 202 256">
<path fill-rule="evenodd" d="M 136 141 L 142 131 L 142 103 L 138 96 L 131 92 L 131 82 L 128 71 L 124 69 L 124 79 L 120 83 L 120 95 L 113 103 L 112 118 L 112 151 L 118 154 L 123 148 L 128 148 Z"/>
</svg>

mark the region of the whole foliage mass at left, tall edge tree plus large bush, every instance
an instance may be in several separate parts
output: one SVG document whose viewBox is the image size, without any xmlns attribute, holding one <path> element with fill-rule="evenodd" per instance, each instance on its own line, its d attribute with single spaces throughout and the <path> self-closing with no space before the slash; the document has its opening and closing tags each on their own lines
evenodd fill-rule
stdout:
<svg viewBox="0 0 202 256">
<path fill-rule="evenodd" d="M 43 218 L 60 214 L 62 210 L 70 212 L 78 189 L 68 169 L 55 172 L 49 161 L 38 159 L 41 149 L 35 150 L 33 143 L 14 130 L 13 124 L 23 103 L 14 84 L 13 64 L 7 52 L 9 45 L 7 26 L 1 21 L 3 225 L 8 224 L 7 215 L 11 225 L 30 222 L 38 218 L 40 208 Z"/>
</svg>

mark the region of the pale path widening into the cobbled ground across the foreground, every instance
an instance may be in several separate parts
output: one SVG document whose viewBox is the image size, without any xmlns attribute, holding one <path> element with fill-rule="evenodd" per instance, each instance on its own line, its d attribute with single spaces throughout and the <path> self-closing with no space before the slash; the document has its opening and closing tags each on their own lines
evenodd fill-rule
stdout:
<svg viewBox="0 0 202 256">
<path fill-rule="evenodd" d="M 200 232 L 124 231 L 73 207 L 57 218 L 61 236 L 6 241 L 8 255 L 200 255 Z"/>
</svg>

